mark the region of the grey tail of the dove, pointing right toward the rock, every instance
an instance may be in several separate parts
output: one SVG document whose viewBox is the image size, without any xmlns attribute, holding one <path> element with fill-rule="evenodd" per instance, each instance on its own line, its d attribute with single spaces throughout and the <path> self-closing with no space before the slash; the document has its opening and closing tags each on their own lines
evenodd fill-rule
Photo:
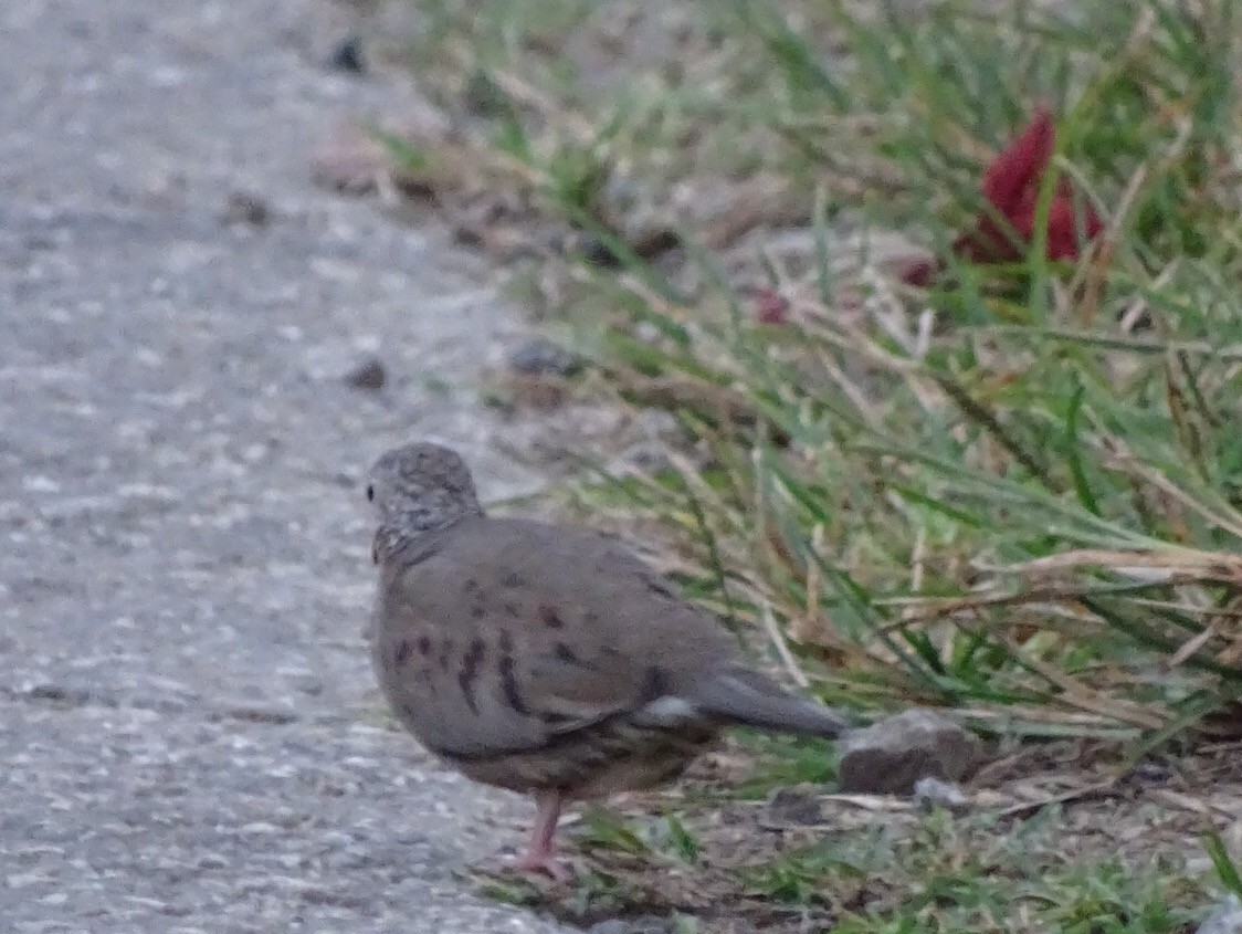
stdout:
<svg viewBox="0 0 1242 934">
<path fill-rule="evenodd" d="M 700 713 L 733 727 L 825 739 L 836 739 L 850 729 L 848 723 L 822 704 L 794 697 L 746 668 L 729 668 L 704 678 L 686 699 Z"/>
</svg>

